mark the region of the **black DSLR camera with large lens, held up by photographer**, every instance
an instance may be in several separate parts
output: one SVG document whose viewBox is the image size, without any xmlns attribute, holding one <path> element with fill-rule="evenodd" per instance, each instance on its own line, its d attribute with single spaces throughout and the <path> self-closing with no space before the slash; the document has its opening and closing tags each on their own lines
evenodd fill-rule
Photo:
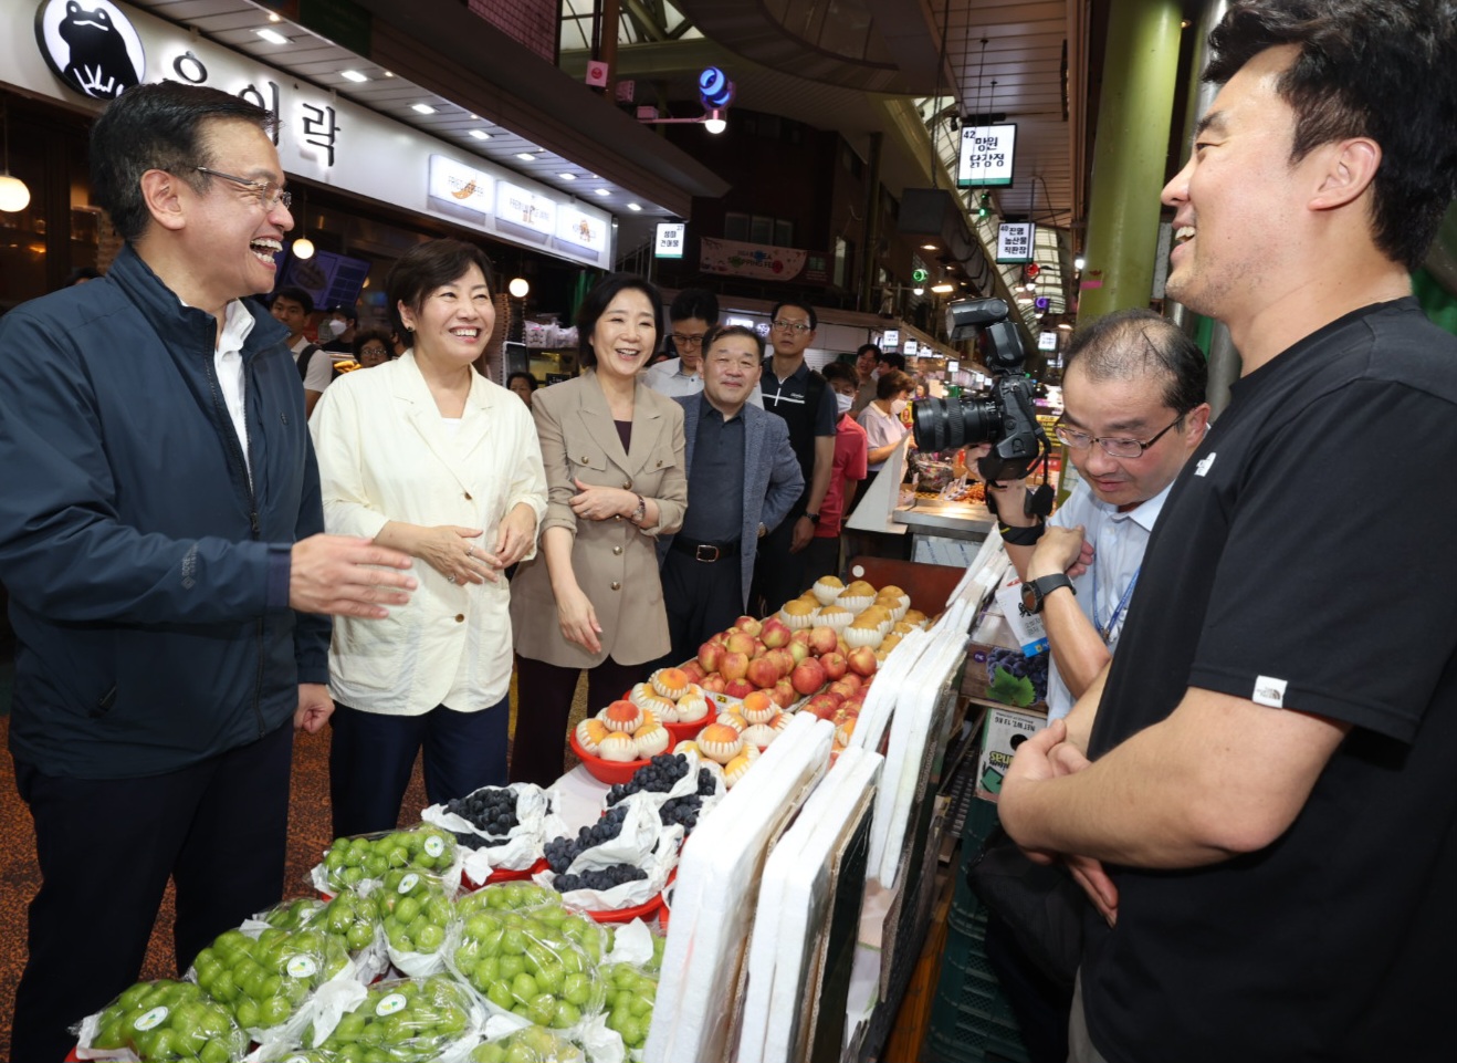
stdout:
<svg viewBox="0 0 1457 1063">
<path fill-rule="evenodd" d="M 915 445 L 922 451 L 991 443 L 992 452 L 976 461 L 988 483 L 1021 480 L 1052 451 L 1037 424 L 1033 383 L 1021 375 L 1027 360 L 1021 334 L 1007 314 L 1001 299 L 957 299 L 946 311 L 953 341 L 982 334 L 982 356 L 995 376 L 988 398 L 925 398 L 911 407 Z"/>
</svg>

